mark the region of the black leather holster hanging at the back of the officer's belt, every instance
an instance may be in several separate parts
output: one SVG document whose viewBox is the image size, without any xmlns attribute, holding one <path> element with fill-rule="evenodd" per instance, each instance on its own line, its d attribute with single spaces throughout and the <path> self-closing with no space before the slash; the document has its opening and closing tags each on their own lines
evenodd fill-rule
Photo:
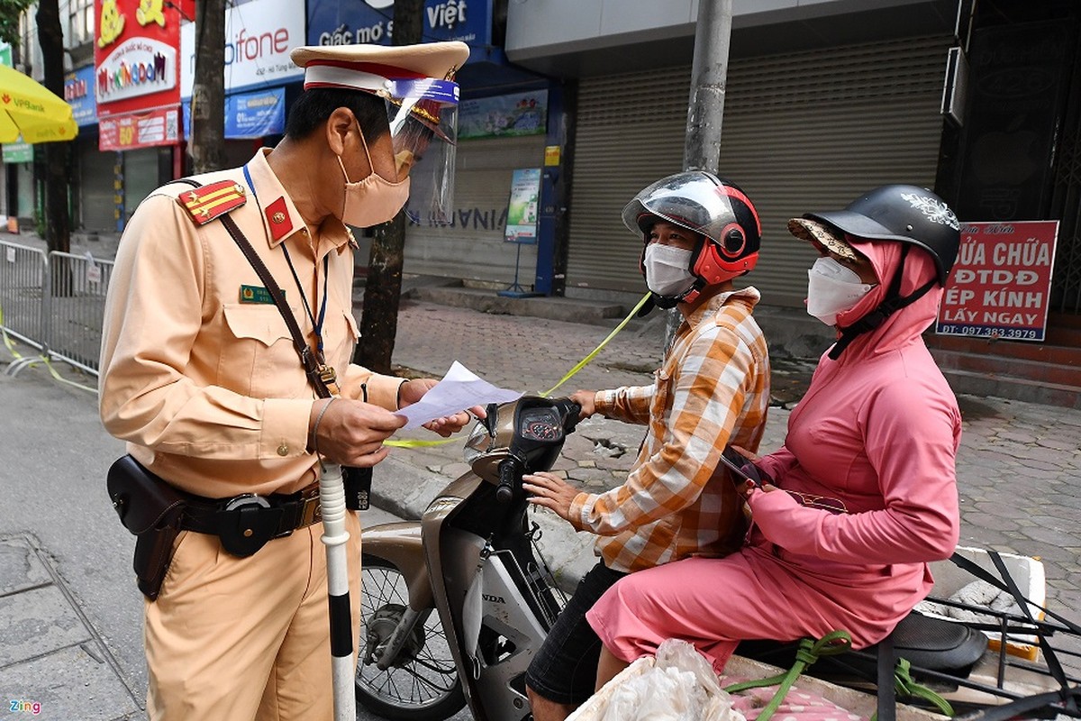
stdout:
<svg viewBox="0 0 1081 721">
<path fill-rule="evenodd" d="M 132 565 L 138 589 L 154 601 L 169 571 L 186 499 L 130 455 L 109 467 L 106 488 L 120 522 L 135 534 Z"/>
</svg>

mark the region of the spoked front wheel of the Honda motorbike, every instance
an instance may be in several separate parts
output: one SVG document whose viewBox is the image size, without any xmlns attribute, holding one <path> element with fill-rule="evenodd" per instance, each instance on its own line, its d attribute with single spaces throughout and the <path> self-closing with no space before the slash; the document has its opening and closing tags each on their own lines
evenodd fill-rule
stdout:
<svg viewBox="0 0 1081 721">
<path fill-rule="evenodd" d="M 385 641 L 395 617 L 408 601 L 401 571 L 391 562 L 361 556 L 361 630 L 356 682 L 357 700 L 369 711 L 392 721 L 442 721 L 466 705 L 454 656 L 439 614 L 432 610 L 402 647 L 400 658 L 385 671 L 365 664 L 370 644 Z M 374 636 L 373 636 L 374 635 Z"/>
</svg>

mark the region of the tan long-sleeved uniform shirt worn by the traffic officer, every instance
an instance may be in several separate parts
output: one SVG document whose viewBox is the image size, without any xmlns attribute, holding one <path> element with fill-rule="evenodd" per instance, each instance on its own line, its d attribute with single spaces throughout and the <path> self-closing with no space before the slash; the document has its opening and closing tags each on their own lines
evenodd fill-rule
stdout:
<svg viewBox="0 0 1081 721">
<path fill-rule="evenodd" d="M 246 202 L 229 214 L 285 292 L 309 345 L 316 334 L 281 245 L 322 328 L 326 362 L 342 396 L 397 409 L 401 378 L 349 363 L 351 236 L 329 217 L 312 238 L 263 149 L 246 168 L 197 177 L 231 179 Z M 254 189 L 254 192 L 253 192 Z M 291 493 L 318 478 L 307 451 L 315 389 L 289 329 L 219 219 L 197 225 L 176 202 L 183 183 L 154 191 L 124 230 L 109 285 L 102 337 L 101 414 L 142 464 L 210 497 Z M 330 256 L 328 277 L 323 258 Z"/>
</svg>

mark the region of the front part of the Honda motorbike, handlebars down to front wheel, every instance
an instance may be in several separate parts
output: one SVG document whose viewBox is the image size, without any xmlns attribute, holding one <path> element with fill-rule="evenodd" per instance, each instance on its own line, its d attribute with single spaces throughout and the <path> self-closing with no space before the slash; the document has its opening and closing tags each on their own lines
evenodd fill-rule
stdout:
<svg viewBox="0 0 1081 721">
<path fill-rule="evenodd" d="M 530 718 L 525 669 L 565 604 L 529 520 L 522 476 L 548 470 L 582 408 L 526 396 L 490 405 L 465 442 L 471 470 L 416 522 L 362 534 L 357 700 L 402 721 L 466 704 L 478 721 Z"/>
</svg>

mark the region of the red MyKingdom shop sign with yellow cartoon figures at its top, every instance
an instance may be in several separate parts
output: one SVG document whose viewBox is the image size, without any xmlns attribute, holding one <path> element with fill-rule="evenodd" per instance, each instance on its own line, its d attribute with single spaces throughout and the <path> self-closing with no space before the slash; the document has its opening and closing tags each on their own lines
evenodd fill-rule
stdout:
<svg viewBox="0 0 1081 721">
<path fill-rule="evenodd" d="M 103 0 L 94 39 L 101 118 L 179 103 L 181 16 L 164 0 Z"/>
</svg>

